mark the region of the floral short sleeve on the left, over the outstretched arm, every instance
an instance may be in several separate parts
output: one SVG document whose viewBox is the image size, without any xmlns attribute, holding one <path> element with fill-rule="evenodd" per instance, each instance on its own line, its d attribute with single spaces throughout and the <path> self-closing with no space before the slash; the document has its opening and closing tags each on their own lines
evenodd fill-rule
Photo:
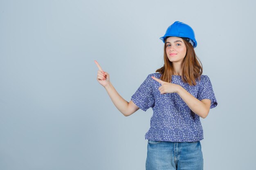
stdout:
<svg viewBox="0 0 256 170">
<path fill-rule="evenodd" d="M 155 105 L 155 98 L 151 84 L 153 82 L 152 80 L 151 76 L 148 75 L 131 98 L 132 102 L 145 112 L 148 108 Z"/>
</svg>

